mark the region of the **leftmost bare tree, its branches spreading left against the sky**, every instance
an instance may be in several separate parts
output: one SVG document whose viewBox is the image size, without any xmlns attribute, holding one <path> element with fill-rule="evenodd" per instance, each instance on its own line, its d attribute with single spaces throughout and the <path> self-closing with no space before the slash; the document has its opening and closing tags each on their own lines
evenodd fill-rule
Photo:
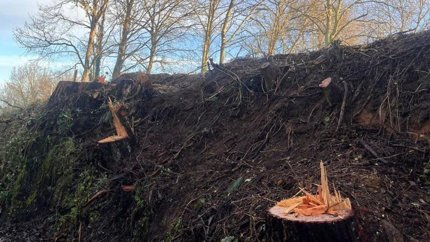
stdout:
<svg viewBox="0 0 430 242">
<path fill-rule="evenodd" d="M 82 81 L 88 81 L 97 59 L 93 58 L 97 27 L 107 5 L 108 0 L 55 0 L 51 5 L 40 5 L 37 15 L 14 31 L 15 40 L 41 59 L 76 60 L 70 68 L 81 65 Z M 88 32 L 82 35 L 82 29 Z M 85 38 L 86 42 L 81 41 Z"/>
</svg>

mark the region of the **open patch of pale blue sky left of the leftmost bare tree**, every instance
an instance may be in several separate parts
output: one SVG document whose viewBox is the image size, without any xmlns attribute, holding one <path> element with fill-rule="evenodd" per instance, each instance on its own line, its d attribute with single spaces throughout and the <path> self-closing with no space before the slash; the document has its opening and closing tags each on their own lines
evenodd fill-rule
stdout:
<svg viewBox="0 0 430 242">
<path fill-rule="evenodd" d="M 13 40 L 13 29 L 28 21 L 38 10 L 38 3 L 50 0 L 0 0 L 0 83 L 7 80 L 13 66 L 22 65 L 29 57 Z"/>
</svg>

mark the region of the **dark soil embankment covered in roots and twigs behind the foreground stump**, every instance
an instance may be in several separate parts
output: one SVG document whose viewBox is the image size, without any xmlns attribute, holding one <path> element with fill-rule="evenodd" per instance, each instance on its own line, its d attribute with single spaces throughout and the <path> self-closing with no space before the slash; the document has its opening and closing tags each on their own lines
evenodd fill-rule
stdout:
<svg viewBox="0 0 430 242">
<path fill-rule="evenodd" d="M 3 218 L 45 216 L 51 230 L 38 236 L 63 240 L 263 241 L 266 209 L 311 190 L 322 160 L 351 198 L 364 241 L 428 241 L 429 43 L 429 32 L 395 35 L 237 59 L 204 76 L 129 74 L 58 88 L 26 116 L 37 135 L 12 142 L 12 163 L 24 165 L 2 170 L 16 174 L 3 178 L 12 184 L 2 187 L 11 191 Z M 270 87 L 264 62 L 278 70 Z M 319 86 L 327 78 L 329 93 Z M 114 133 L 108 97 L 122 103 L 132 138 L 104 146 L 97 140 Z"/>
</svg>

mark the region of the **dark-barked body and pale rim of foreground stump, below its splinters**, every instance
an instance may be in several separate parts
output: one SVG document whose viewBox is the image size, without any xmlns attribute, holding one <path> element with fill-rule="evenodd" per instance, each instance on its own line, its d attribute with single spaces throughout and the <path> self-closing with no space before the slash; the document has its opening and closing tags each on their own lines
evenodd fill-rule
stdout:
<svg viewBox="0 0 430 242">
<path fill-rule="evenodd" d="M 352 210 L 338 210 L 339 216 L 285 214 L 285 207 L 267 211 L 266 235 L 272 242 L 357 242 Z"/>
</svg>

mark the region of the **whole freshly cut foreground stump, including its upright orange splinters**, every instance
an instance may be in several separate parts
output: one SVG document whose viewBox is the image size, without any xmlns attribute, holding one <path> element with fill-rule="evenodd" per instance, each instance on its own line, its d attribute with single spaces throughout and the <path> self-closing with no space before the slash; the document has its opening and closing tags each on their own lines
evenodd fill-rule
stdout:
<svg viewBox="0 0 430 242">
<path fill-rule="evenodd" d="M 321 185 L 315 195 L 284 199 L 269 208 L 266 217 L 268 241 L 344 242 L 359 241 L 349 198 L 336 189 L 330 194 L 323 162 Z"/>
</svg>

